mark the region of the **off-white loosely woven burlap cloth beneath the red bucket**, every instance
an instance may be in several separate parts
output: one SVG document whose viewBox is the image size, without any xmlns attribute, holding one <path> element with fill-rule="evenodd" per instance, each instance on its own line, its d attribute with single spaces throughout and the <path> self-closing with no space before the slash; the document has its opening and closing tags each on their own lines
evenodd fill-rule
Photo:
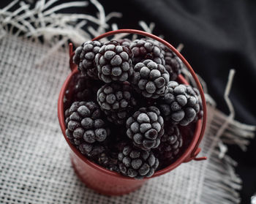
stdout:
<svg viewBox="0 0 256 204">
<path fill-rule="evenodd" d="M 218 128 L 209 125 L 200 145 L 207 161 L 182 164 L 120 197 L 87 188 L 72 169 L 57 118 L 57 99 L 69 74 L 69 55 L 67 50 L 58 50 L 37 64 L 48 49 L 48 45 L 12 35 L 0 39 L 0 203 L 194 204 L 214 203 L 221 194 L 226 194 L 227 203 L 238 202 L 233 189 L 240 181 L 236 175 L 231 178 L 230 165 L 231 170 L 225 170 L 223 161 L 213 157 Z M 211 109 L 209 122 L 216 117 Z M 219 189 L 218 185 L 214 189 L 214 182 L 208 181 L 211 178 L 228 182 L 220 182 Z M 230 190 L 225 192 L 222 185 Z M 213 192 L 206 197 L 203 194 L 209 189 Z"/>
</svg>

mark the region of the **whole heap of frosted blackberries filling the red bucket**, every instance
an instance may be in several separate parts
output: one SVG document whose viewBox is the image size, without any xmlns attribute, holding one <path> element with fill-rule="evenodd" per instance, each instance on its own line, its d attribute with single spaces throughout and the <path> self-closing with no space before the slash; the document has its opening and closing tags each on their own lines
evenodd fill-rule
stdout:
<svg viewBox="0 0 256 204">
<path fill-rule="evenodd" d="M 88 41 L 64 98 L 66 135 L 91 161 L 145 178 L 180 156 L 202 117 L 196 88 L 179 83 L 181 61 L 152 39 Z"/>
</svg>

